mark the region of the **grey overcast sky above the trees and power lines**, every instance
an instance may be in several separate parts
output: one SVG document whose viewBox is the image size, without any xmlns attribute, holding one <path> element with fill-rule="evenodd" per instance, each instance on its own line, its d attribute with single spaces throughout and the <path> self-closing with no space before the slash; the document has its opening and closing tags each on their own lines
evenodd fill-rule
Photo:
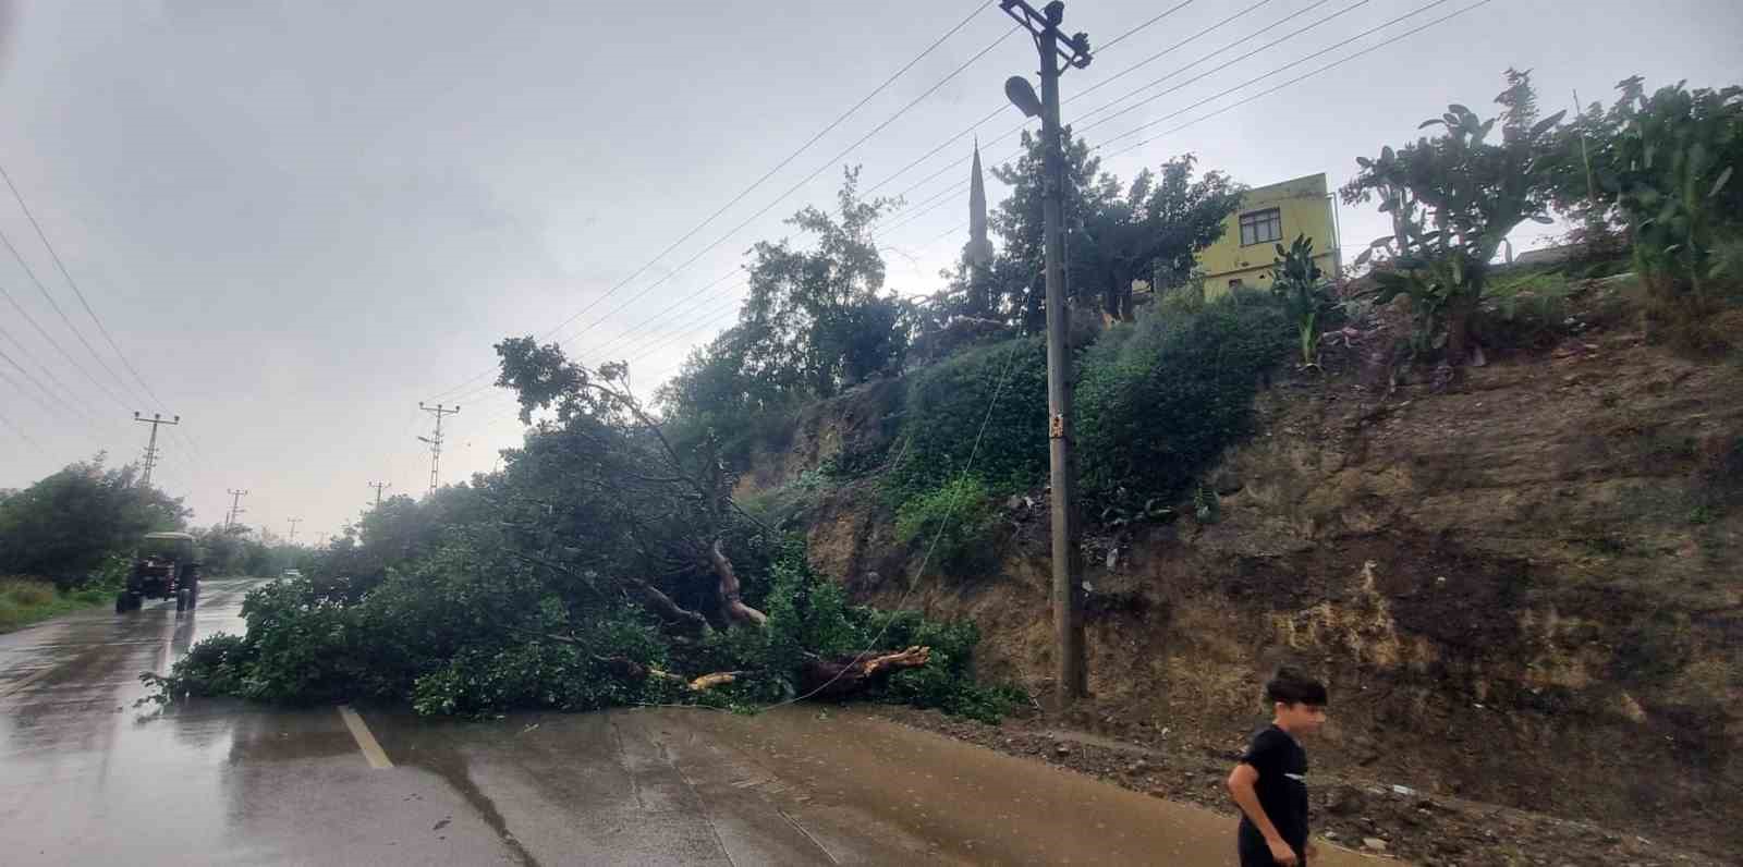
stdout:
<svg viewBox="0 0 1743 867">
<path fill-rule="evenodd" d="M 586 310 L 556 334 L 572 353 L 629 359 L 643 385 L 662 378 L 732 315 L 744 249 L 784 235 L 800 205 L 830 204 L 844 162 L 863 164 L 878 195 L 906 192 L 878 240 L 891 284 L 929 292 L 966 240 L 967 192 L 945 193 L 966 165 L 945 167 L 969 143 L 896 172 L 997 111 L 1002 80 L 1035 68 L 997 3 L 666 251 L 978 2 L 0 0 L 0 165 L 125 353 L 0 190 L 0 230 L 78 329 L 0 249 L 0 289 L 77 360 L 0 299 L 0 350 L 73 407 L 0 360 L 0 416 L 23 428 L 0 427 L 0 487 L 103 449 L 134 460 L 148 428 L 132 411 L 180 414 L 157 479 L 197 522 L 221 521 L 225 489 L 241 487 L 251 524 L 284 533 L 300 517 L 300 540 L 336 533 L 371 481 L 427 489 L 418 400 L 462 406 L 444 423 L 444 481 L 490 470 L 518 442 L 512 404 L 472 390 L 507 334 L 544 336 Z M 1217 28 L 1253 2 L 1189 2 L 1072 70 L 1063 115 L 1109 153 L 1149 139 L 1105 162 L 1121 178 L 1192 151 L 1250 185 L 1321 171 L 1339 185 L 1354 157 L 1412 139 L 1448 101 L 1490 113 L 1508 66 L 1536 71 L 1546 111 L 1574 89 L 1609 103 L 1633 73 L 1743 82 L 1736 0 L 1494 0 L 1403 37 L 1473 2 L 1447 0 L 1290 66 L 1429 2 L 1272 0 Z M 1075 0 L 1067 28 L 1103 45 L 1177 3 Z M 1088 125 L 1089 110 L 1170 73 L 1093 117 L 1138 108 Z M 1020 120 L 999 111 L 978 129 L 988 164 L 1011 155 L 1014 136 L 999 136 Z M 1152 125 L 1117 138 L 1140 124 Z M 988 198 L 1002 197 L 988 178 Z M 1342 209 L 1344 244 L 1384 233 L 1375 216 Z"/>
</svg>

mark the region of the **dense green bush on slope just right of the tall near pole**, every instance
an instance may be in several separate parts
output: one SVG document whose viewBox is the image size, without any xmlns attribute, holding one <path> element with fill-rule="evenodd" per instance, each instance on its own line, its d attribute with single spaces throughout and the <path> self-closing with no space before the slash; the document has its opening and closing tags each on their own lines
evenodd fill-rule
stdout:
<svg viewBox="0 0 1743 867">
<path fill-rule="evenodd" d="M 1253 393 L 1293 331 L 1283 305 L 1257 291 L 1109 329 L 1084 353 L 1075 388 L 1086 503 L 1131 512 L 1182 493 L 1248 434 Z"/>
</svg>

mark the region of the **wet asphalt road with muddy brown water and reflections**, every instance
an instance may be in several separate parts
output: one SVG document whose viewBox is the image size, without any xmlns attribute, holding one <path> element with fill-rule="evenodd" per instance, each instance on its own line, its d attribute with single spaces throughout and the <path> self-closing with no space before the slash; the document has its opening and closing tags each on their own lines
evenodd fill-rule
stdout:
<svg viewBox="0 0 1743 867">
<path fill-rule="evenodd" d="M 838 709 L 134 707 L 258 583 L 0 635 L 0 864 L 1234 864 L 1227 817 Z"/>
</svg>

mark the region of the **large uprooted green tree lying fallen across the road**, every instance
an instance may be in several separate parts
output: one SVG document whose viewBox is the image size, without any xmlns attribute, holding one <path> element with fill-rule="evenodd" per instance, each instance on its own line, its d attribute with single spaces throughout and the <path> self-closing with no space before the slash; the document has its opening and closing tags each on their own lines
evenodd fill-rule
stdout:
<svg viewBox="0 0 1743 867">
<path fill-rule="evenodd" d="M 711 437 L 671 444 L 622 366 L 589 371 L 532 339 L 498 353 L 498 385 L 533 430 L 498 472 L 411 507 L 441 522 L 420 533 L 441 543 L 380 581 L 328 581 L 342 547 L 314 580 L 251 594 L 246 635 L 148 675 L 160 698 L 368 696 L 460 716 L 852 696 L 1004 707 L 969 677 L 973 628 L 849 606 L 802 543 L 732 501 Z"/>
</svg>

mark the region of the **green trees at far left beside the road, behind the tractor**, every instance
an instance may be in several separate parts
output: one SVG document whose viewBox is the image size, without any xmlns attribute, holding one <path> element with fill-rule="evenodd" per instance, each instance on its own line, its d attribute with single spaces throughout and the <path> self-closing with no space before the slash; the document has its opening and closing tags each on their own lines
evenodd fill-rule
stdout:
<svg viewBox="0 0 1743 867">
<path fill-rule="evenodd" d="M 73 587 L 146 533 L 181 529 L 187 515 L 181 500 L 138 484 L 136 467 L 110 468 L 98 454 L 0 496 L 0 573 Z"/>
</svg>

